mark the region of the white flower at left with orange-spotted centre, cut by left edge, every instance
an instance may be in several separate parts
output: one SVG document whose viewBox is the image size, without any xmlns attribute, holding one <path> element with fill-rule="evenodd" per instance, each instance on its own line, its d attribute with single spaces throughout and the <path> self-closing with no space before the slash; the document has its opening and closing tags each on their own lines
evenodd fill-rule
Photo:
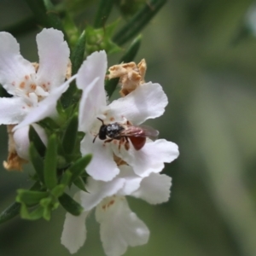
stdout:
<svg viewBox="0 0 256 256">
<path fill-rule="evenodd" d="M 8 32 L 0 32 L 0 42 L 0 84 L 12 95 L 0 98 L 0 125 L 17 124 L 17 152 L 27 159 L 25 126 L 55 116 L 56 102 L 70 83 L 64 83 L 70 51 L 63 33 L 53 28 L 44 29 L 37 36 L 39 65 L 20 55 L 20 45 Z"/>
</svg>

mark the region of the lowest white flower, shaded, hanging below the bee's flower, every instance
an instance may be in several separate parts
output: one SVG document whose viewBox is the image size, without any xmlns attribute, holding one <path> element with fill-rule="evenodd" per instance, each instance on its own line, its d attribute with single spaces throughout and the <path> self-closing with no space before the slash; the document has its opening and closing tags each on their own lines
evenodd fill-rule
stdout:
<svg viewBox="0 0 256 256">
<path fill-rule="evenodd" d="M 125 195 L 142 198 L 151 204 L 168 201 L 171 177 L 151 173 L 139 177 L 131 166 L 120 166 L 120 175 L 110 182 L 88 178 L 87 192 L 80 191 L 75 200 L 84 207 L 79 217 L 67 212 L 61 243 L 70 253 L 76 253 L 86 239 L 85 218 L 96 207 L 96 220 L 100 224 L 100 235 L 105 253 L 119 256 L 128 246 L 135 247 L 148 242 L 149 230 L 128 206 Z"/>
</svg>

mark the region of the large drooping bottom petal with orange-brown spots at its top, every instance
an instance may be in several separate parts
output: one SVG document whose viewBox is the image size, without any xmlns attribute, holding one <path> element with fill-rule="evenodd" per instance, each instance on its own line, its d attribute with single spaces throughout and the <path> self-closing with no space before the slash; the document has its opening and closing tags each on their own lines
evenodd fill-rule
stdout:
<svg viewBox="0 0 256 256">
<path fill-rule="evenodd" d="M 122 255 L 128 246 L 148 242 L 147 226 L 131 212 L 125 198 L 112 197 L 102 201 L 96 207 L 96 220 L 101 224 L 101 240 L 108 256 Z"/>
</svg>

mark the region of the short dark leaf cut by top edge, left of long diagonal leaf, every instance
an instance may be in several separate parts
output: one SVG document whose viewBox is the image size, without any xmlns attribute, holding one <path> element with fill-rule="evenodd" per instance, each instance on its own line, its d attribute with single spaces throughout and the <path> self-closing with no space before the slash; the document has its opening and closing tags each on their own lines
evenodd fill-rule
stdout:
<svg viewBox="0 0 256 256">
<path fill-rule="evenodd" d="M 96 18 L 94 20 L 94 27 L 100 28 L 105 26 L 108 16 L 110 15 L 113 3 L 115 0 L 101 0 L 98 4 L 98 9 L 96 12 Z"/>
</svg>

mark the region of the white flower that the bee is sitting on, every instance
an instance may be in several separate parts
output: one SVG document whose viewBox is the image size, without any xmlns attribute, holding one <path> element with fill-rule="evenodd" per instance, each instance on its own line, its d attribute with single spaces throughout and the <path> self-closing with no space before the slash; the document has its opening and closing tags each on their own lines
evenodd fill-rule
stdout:
<svg viewBox="0 0 256 256">
<path fill-rule="evenodd" d="M 130 149 L 113 140 L 104 143 L 98 137 L 102 122 L 108 125 L 113 122 L 125 124 L 127 120 L 132 125 L 141 125 L 147 119 L 162 115 L 168 103 L 166 94 L 160 84 L 151 82 L 142 84 L 129 95 L 113 101 L 109 105 L 104 90 L 104 79 L 107 70 L 107 55 L 104 51 L 90 55 L 79 69 L 77 86 L 83 90 L 79 106 L 79 131 L 86 133 L 81 142 L 82 154 L 93 154 L 86 171 L 96 180 L 110 181 L 119 174 L 119 168 L 113 160 L 113 153 L 133 168 L 133 171 L 147 177 L 151 172 L 160 172 L 164 163 L 170 163 L 178 156 L 175 143 L 165 139 L 151 141 L 140 150 L 130 143 Z"/>
</svg>

